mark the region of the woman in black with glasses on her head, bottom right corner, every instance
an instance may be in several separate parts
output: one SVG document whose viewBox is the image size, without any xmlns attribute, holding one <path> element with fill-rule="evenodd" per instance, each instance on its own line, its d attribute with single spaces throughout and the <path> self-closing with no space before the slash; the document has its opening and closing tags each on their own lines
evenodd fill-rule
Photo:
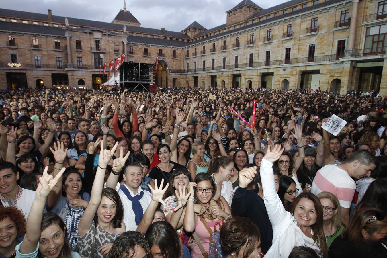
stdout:
<svg viewBox="0 0 387 258">
<path fill-rule="evenodd" d="M 329 248 L 329 258 L 387 257 L 387 215 L 377 208 L 362 208 L 336 237 Z"/>
</svg>

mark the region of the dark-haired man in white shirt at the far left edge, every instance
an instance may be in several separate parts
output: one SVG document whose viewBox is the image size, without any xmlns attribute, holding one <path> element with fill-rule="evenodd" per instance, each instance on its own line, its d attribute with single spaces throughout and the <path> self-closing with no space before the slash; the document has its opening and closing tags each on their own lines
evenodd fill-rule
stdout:
<svg viewBox="0 0 387 258">
<path fill-rule="evenodd" d="M 35 192 L 17 185 L 19 172 L 11 162 L 0 164 L 0 200 L 5 207 L 14 207 L 22 210 L 27 219 Z"/>
</svg>

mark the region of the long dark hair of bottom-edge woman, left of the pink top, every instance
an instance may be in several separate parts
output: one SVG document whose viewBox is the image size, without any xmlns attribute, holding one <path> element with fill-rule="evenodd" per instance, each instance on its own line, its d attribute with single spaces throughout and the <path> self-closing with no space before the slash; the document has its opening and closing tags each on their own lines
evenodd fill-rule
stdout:
<svg viewBox="0 0 387 258">
<path fill-rule="evenodd" d="M 163 258 L 182 258 L 183 246 L 180 236 L 171 224 L 166 221 L 153 223 L 145 233 L 149 247 L 159 247 Z"/>
</svg>

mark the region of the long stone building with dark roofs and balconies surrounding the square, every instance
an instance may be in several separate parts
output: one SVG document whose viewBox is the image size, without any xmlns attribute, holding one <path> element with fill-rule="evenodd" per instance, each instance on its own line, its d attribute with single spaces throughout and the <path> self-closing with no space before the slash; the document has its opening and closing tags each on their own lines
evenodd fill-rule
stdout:
<svg viewBox="0 0 387 258">
<path fill-rule="evenodd" d="M 161 87 L 387 95 L 387 1 L 291 0 L 262 9 L 243 0 L 211 29 L 196 21 L 181 32 L 140 25 L 125 4 L 111 23 L 0 9 L 0 89 L 98 88 L 108 80 L 99 66 L 125 53 L 127 62 L 158 57 L 151 75 Z"/>
</svg>

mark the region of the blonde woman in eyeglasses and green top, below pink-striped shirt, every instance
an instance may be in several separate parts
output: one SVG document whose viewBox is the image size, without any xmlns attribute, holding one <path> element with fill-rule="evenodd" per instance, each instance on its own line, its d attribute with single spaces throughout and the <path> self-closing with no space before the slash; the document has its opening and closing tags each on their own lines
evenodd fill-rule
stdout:
<svg viewBox="0 0 387 258">
<path fill-rule="evenodd" d="M 322 205 L 324 218 L 324 233 L 327 237 L 329 248 L 333 240 L 340 236 L 345 226 L 341 223 L 341 207 L 337 197 L 329 192 L 321 192 L 317 195 Z"/>
</svg>

